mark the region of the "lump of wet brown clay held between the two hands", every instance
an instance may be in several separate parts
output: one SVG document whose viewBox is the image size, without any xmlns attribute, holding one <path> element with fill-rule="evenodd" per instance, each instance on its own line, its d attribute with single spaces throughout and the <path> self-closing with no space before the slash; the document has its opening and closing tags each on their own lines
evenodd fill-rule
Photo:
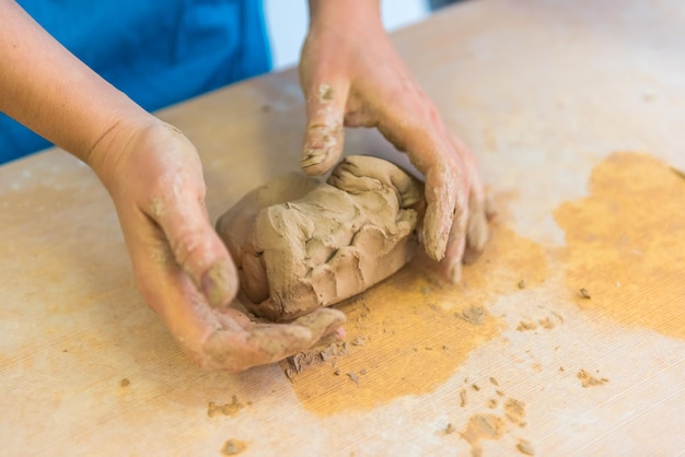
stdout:
<svg viewBox="0 0 685 457">
<path fill-rule="evenodd" d="M 363 292 L 418 247 L 422 185 L 381 159 L 352 155 L 326 183 L 292 173 L 243 197 L 217 222 L 239 268 L 239 300 L 275 321 Z"/>
</svg>

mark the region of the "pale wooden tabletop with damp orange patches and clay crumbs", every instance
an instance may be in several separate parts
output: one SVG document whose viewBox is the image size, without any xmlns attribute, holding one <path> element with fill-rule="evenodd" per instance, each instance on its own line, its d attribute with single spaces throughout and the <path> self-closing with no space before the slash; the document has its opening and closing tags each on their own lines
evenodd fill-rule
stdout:
<svg viewBox="0 0 685 457">
<path fill-rule="evenodd" d="M 483 0 L 394 40 L 498 209 L 463 283 L 416 261 L 341 306 L 325 362 L 204 373 L 93 173 L 4 165 L 0 455 L 683 455 L 685 7 Z M 294 71 L 160 116 L 198 147 L 212 219 L 297 168 Z M 402 159 L 369 130 L 347 151 Z"/>
</svg>

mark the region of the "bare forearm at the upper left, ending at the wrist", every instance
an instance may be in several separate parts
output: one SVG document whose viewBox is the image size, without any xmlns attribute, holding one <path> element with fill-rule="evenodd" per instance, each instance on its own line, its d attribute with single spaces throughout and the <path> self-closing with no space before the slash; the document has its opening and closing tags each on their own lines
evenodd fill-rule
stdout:
<svg viewBox="0 0 685 457">
<path fill-rule="evenodd" d="M 13 0 L 0 0 L 0 110 L 86 163 L 123 120 L 150 118 Z"/>
</svg>

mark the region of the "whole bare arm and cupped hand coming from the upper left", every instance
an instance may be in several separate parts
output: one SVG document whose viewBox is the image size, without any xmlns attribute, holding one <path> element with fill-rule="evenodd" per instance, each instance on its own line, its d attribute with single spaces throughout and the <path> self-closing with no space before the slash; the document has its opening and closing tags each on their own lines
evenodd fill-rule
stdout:
<svg viewBox="0 0 685 457">
<path fill-rule="evenodd" d="M 264 325 L 231 307 L 237 276 L 205 209 L 197 151 L 79 61 L 13 1 L 0 1 L 0 112 L 86 162 L 109 191 L 143 298 L 204 367 L 237 372 L 335 335 L 321 309 Z"/>
</svg>

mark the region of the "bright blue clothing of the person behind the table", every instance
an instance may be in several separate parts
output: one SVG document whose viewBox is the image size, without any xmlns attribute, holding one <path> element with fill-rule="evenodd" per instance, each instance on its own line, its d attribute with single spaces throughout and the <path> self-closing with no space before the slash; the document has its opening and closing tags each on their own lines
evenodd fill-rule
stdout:
<svg viewBox="0 0 685 457">
<path fill-rule="evenodd" d="M 255 0 L 18 0 L 50 35 L 147 110 L 270 69 Z M 49 147 L 0 114 L 0 163 Z"/>
</svg>

